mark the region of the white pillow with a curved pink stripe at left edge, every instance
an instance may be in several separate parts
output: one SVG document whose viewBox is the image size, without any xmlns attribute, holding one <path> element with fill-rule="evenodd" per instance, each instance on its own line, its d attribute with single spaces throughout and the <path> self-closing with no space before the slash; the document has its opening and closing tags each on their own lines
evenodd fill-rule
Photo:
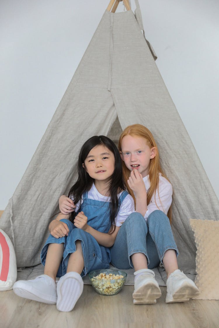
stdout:
<svg viewBox="0 0 219 328">
<path fill-rule="evenodd" d="M 0 229 L 0 291 L 12 289 L 17 279 L 14 247 L 6 233 Z"/>
</svg>

